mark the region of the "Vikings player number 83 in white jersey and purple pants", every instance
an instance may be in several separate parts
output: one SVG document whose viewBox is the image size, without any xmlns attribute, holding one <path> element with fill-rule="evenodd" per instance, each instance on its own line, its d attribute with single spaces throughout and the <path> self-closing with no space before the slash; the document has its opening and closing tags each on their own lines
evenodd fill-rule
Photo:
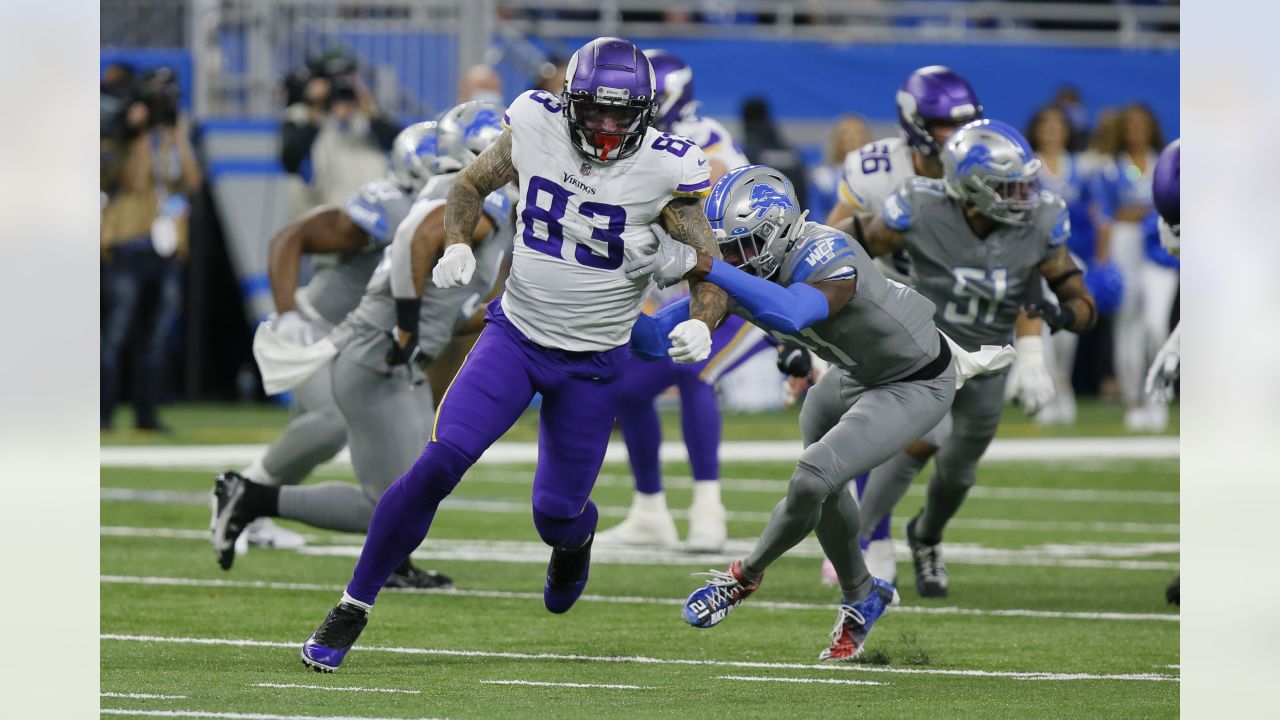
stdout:
<svg viewBox="0 0 1280 720">
<path fill-rule="evenodd" d="M 347 591 L 302 646 L 307 666 L 338 669 L 440 501 L 535 393 L 543 401 L 534 527 L 553 548 L 543 603 L 566 612 L 582 594 L 598 519 L 589 496 L 613 428 L 614 379 L 649 286 L 648 277 L 627 279 L 623 261 L 657 249 L 650 223 L 719 256 L 700 204 L 710 190 L 707 156 L 691 140 L 652 128 L 654 106 L 653 68 L 640 49 L 618 37 L 593 40 L 570 59 L 564 91 L 517 97 L 507 129 L 453 183 L 431 281 L 449 288 L 471 279 L 467 241 L 484 199 L 517 182 L 511 275 L 440 400 L 430 442 L 379 500 Z M 721 288 L 694 283 L 690 319 L 668 336 L 672 357 L 707 357 L 727 305 Z"/>
</svg>

